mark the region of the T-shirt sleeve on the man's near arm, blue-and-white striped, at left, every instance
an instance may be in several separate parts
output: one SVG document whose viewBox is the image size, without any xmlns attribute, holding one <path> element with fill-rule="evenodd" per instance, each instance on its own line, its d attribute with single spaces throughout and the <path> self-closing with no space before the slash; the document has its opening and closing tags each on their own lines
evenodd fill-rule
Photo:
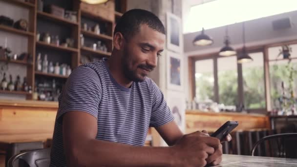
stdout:
<svg viewBox="0 0 297 167">
<path fill-rule="evenodd" d="M 57 120 L 69 111 L 87 112 L 97 119 L 101 95 L 98 74 L 88 66 L 79 66 L 71 73 L 64 86 Z"/>
</svg>

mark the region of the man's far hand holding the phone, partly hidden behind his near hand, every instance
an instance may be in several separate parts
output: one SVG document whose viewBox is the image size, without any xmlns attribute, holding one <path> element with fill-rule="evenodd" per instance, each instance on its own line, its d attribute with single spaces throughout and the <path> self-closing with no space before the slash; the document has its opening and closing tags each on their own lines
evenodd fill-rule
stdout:
<svg viewBox="0 0 297 167">
<path fill-rule="evenodd" d="M 208 134 L 206 130 L 202 130 L 203 133 Z M 232 140 L 232 137 L 230 134 L 226 136 L 222 143 L 227 141 L 230 142 Z M 206 159 L 207 164 L 209 165 L 218 165 L 222 161 L 222 154 L 223 154 L 223 149 L 222 149 L 222 144 L 220 144 L 218 147 L 214 148 L 214 153 L 212 155 L 209 155 L 209 157 Z"/>
</svg>

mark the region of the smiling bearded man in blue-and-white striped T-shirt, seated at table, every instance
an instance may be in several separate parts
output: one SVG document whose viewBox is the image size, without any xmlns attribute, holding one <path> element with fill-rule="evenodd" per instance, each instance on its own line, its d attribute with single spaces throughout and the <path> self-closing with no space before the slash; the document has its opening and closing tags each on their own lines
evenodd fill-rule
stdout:
<svg viewBox="0 0 297 167">
<path fill-rule="evenodd" d="M 110 58 L 78 67 L 66 82 L 51 167 L 203 167 L 221 162 L 220 141 L 207 132 L 184 135 L 162 92 L 147 78 L 164 43 L 165 28 L 152 13 L 133 9 L 122 16 Z M 169 147 L 143 146 L 149 126 Z"/>
</svg>

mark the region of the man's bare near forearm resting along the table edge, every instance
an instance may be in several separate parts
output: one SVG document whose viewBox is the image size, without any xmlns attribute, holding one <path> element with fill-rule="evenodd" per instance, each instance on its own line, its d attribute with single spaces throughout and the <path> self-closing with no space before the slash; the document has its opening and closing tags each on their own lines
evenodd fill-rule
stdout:
<svg viewBox="0 0 297 167">
<path fill-rule="evenodd" d="M 170 167 L 171 149 L 91 140 L 69 152 L 67 163 L 71 167 Z"/>
</svg>

